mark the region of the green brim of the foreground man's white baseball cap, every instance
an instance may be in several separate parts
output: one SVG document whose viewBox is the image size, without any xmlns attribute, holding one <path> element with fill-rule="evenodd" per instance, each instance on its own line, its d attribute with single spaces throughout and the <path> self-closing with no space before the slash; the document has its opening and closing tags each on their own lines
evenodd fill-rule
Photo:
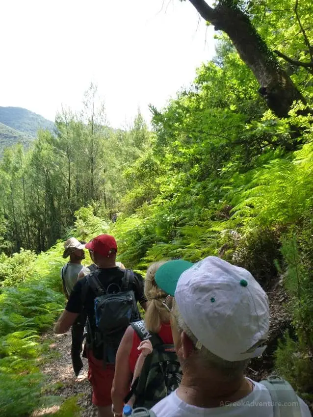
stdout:
<svg viewBox="0 0 313 417">
<path fill-rule="evenodd" d="M 180 276 L 186 269 L 191 268 L 192 265 L 192 262 L 184 261 L 183 259 L 163 263 L 156 271 L 156 285 L 174 297 Z"/>
</svg>

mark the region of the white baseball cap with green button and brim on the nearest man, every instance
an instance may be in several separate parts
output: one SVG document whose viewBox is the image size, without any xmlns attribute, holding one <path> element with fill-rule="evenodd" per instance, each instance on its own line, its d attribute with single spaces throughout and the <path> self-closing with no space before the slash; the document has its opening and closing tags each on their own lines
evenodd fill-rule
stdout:
<svg viewBox="0 0 313 417">
<path fill-rule="evenodd" d="M 175 262 L 181 261 L 162 265 L 159 278 L 170 271 L 173 279 Z M 246 269 L 213 256 L 191 267 L 186 264 L 177 277 L 174 295 L 184 322 L 198 339 L 198 347 L 202 344 L 230 362 L 255 358 L 265 350 L 268 298 Z"/>
</svg>

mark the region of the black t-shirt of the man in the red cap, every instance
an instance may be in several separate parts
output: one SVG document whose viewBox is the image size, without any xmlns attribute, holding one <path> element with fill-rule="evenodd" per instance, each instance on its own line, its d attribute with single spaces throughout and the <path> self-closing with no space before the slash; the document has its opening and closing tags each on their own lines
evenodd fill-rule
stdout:
<svg viewBox="0 0 313 417">
<path fill-rule="evenodd" d="M 106 290 L 110 284 L 117 284 L 119 287 L 121 287 L 124 272 L 124 269 L 116 266 L 115 268 L 96 269 L 93 271 L 93 274 L 96 274 L 104 290 Z M 93 333 L 92 337 L 94 337 L 96 327 L 94 301 L 96 294 L 91 289 L 91 287 L 86 284 L 87 276 L 88 275 L 86 275 L 75 284 L 65 309 L 70 313 L 82 313 L 83 311 L 86 312 L 91 331 Z M 144 295 L 143 278 L 140 274 L 133 272 L 132 276 L 130 277 L 129 289 L 133 290 L 137 302 L 143 303 L 147 301 Z"/>
</svg>

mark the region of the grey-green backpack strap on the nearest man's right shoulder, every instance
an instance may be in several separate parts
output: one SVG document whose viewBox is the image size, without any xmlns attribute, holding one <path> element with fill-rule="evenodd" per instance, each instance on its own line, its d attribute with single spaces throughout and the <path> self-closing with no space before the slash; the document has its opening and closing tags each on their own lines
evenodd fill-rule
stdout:
<svg viewBox="0 0 313 417">
<path fill-rule="evenodd" d="M 271 395 L 274 417 L 301 417 L 297 394 L 287 381 L 277 375 L 270 375 L 261 384 Z"/>
</svg>

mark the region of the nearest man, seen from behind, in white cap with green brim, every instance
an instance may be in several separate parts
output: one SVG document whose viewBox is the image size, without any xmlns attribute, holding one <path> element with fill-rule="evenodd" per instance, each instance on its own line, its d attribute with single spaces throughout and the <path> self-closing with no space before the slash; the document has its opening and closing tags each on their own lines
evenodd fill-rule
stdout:
<svg viewBox="0 0 313 417">
<path fill-rule="evenodd" d="M 276 390 L 277 398 L 294 401 L 282 409 L 273 403 L 275 389 L 244 376 L 269 329 L 267 295 L 247 270 L 216 257 L 176 260 L 160 266 L 155 280 L 170 294 L 164 305 L 183 369 L 180 387 L 153 407 L 156 417 L 311 416 L 287 381 L 281 384 L 289 391 Z"/>
</svg>

